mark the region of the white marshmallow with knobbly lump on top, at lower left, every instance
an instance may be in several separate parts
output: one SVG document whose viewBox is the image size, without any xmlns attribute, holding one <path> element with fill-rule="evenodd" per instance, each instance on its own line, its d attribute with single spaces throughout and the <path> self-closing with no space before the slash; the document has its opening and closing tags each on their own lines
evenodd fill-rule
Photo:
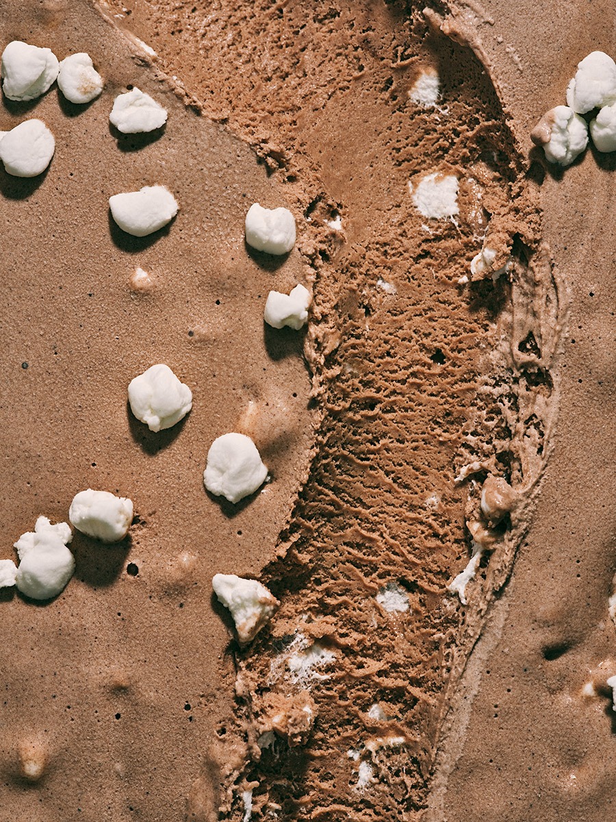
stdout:
<svg viewBox="0 0 616 822">
<path fill-rule="evenodd" d="M 20 564 L 16 586 L 33 599 L 51 599 L 67 585 L 75 570 L 75 558 L 67 548 L 72 533 L 66 522 L 52 525 L 39 516 L 34 531 L 22 533 L 15 543 Z"/>
</svg>

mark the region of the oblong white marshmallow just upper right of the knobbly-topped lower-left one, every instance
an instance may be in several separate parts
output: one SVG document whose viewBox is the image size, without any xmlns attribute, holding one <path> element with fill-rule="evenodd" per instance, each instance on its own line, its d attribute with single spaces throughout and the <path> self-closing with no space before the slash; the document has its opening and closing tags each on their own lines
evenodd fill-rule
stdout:
<svg viewBox="0 0 616 822">
<path fill-rule="evenodd" d="M 132 501 L 108 491 L 80 491 L 68 510 L 71 525 L 103 543 L 119 543 L 131 527 Z"/>
</svg>

